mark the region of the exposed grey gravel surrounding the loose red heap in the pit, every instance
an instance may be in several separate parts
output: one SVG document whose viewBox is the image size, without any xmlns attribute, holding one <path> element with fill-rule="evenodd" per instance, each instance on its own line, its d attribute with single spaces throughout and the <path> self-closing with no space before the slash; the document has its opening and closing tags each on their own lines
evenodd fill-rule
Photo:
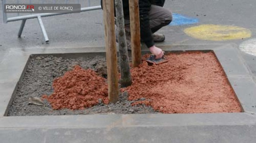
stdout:
<svg viewBox="0 0 256 143">
<path fill-rule="evenodd" d="M 62 76 L 75 65 L 84 69 L 91 68 L 102 77 L 107 77 L 106 59 L 102 56 L 64 58 L 53 55 L 32 55 L 28 63 L 24 77 L 20 81 L 17 92 L 9 107 L 8 116 L 27 115 L 78 115 L 78 114 L 157 114 L 150 106 L 131 106 L 134 101 L 127 100 L 128 94 L 120 94 L 120 100 L 113 104 L 105 105 L 102 99 L 99 104 L 85 110 L 61 109 L 53 110 L 50 104 L 44 100 L 46 106 L 28 105 L 29 97 L 41 97 L 53 92 L 52 82 L 54 78 Z M 146 98 L 140 98 L 146 100 Z"/>
</svg>

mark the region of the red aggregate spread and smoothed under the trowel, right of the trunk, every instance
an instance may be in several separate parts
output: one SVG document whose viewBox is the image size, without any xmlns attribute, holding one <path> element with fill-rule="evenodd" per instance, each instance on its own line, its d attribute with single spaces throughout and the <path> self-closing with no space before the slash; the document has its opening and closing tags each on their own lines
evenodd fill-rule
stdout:
<svg viewBox="0 0 256 143">
<path fill-rule="evenodd" d="M 168 54 L 169 62 L 132 68 L 132 86 L 122 89 L 133 105 L 163 113 L 241 112 L 236 95 L 213 52 Z"/>
</svg>

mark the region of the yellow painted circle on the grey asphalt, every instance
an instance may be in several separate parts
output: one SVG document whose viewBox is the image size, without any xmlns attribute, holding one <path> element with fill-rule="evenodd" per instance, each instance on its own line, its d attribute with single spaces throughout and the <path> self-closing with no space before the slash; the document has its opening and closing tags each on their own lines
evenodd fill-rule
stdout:
<svg viewBox="0 0 256 143">
<path fill-rule="evenodd" d="M 230 25 L 199 25 L 187 28 L 184 32 L 201 40 L 225 41 L 251 37 L 251 31 L 246 28 Z"/>
</svg>

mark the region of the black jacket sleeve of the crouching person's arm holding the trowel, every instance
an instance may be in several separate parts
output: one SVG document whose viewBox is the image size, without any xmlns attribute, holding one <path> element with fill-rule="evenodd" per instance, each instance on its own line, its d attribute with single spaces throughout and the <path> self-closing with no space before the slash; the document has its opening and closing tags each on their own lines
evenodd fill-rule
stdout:
<svg viewBox="0 0 256 143">
<path fill-rule="evenodd" d="M 151 2 L 149 0 L 139 0 L 140 9 L 140 37 L 148 48 L 154 46 L 152 32 L 149 26 L 149 11 Z"/>
</svg>

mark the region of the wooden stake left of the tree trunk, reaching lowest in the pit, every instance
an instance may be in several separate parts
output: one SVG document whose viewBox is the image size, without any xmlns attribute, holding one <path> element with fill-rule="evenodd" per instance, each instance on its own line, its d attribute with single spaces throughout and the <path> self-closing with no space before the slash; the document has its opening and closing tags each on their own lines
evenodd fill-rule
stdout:
<svg viewBox="0 0 256 143">
<path fill-rule="evenodd" d="M 108 74 L 108 98 L 110 102 L 118 101 L 118 69 L 116 56 L 116 37 L 115 37 L 115 20 L 114 20 L 114 1 L 103 0 L 103 16 L 105 29 L 105 45 L 107 57 L 107 74 Z"/>
</svg>

